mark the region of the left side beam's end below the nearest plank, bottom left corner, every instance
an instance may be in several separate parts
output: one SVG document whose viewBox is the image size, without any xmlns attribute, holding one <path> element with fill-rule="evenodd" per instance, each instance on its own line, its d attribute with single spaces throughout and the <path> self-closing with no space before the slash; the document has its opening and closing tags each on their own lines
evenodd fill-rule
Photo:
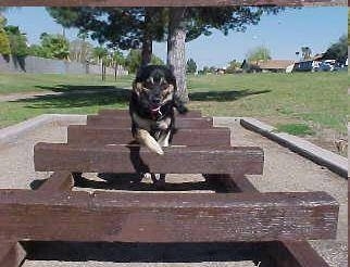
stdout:
<svg viewBox="0 0 350 267">
<path fill-rule="evenodd" d="M 0 241 L 0 266 L 18 267 L 25 257 L 26 252 L 18 242 Z"/>
</svg>

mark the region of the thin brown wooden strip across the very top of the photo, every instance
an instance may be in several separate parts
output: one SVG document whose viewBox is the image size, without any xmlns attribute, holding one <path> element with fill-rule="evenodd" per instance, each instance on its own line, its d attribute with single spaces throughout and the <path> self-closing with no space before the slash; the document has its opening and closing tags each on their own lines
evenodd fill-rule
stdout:
<svg viewBox="0 0 350 267">
<path fill-rule="evenodd" d="M 226 7 L 226 5 L 346 5 L 341 0 L 2 0 L 10 7 Z"/>
</svg>

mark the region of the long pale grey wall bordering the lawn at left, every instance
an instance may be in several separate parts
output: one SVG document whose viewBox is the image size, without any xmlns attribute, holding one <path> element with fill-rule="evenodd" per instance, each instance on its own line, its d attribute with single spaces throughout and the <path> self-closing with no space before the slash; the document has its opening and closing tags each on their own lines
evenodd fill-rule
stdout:
<svg viewBox="0 0 350 267">
<path fill-rule="evenodd" d="M 102 66 L 37 56 L 26 56 L 25 59 L 14 56 L 4 59 L 3 56 L 0 56 L 0 73 L 20 72 L 37 74 L 101 74 Z M 115 72 L 117 76 L 128 74 L 128 72 L 120 65 L 116 66 L 116 69 L 107 67 L 108 75 L 114 75 Z"/>
</svg>

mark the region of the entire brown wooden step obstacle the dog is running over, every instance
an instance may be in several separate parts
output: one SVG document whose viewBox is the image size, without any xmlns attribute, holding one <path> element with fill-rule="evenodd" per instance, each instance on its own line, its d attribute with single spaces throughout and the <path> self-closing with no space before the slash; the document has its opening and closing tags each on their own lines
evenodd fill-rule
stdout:
<svg viewBox="0 0 350 267">
<path fill-rule="evenodd" d="M 262 174 L 263 151 L 230 147 L 228 129 L 191 124 L 212 122 L 198 115 L 177 116 L 183 128 L 163 156 L 132 142 L 125 111 L 68 126 L 65 144 L 36 144 L 36 170 L 54 173 L 35 191 L 0 190 L 0 240 L 10 240 L 0 243 L 0 266 L 20 265 L 23 240 L 249 242 L 260 266 L 328 266 L 305 240 L 336 237 L 338 203 L 324 192 L 260 193 L 245 175 Z M 71 191 L 72 173 L 95 171 L 202 174 L 227 193 Z"/>
</svg>

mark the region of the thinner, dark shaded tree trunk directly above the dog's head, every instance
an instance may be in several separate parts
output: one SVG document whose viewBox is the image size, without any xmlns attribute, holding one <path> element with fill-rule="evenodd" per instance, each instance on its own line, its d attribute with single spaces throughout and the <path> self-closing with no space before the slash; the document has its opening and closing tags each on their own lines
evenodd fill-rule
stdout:
<svg viewBox="0 0 350 267">
<path fill-rule="evenodd" d="M 150 22 L 154 10 L 152 8 L 146 8 L 145 12 L 145 30 L 142 38 L 142 51 L 141 51 L 141 66 L 147 66 L 152 59 L 152 34 L 150 31 Z"/>
</svg>

